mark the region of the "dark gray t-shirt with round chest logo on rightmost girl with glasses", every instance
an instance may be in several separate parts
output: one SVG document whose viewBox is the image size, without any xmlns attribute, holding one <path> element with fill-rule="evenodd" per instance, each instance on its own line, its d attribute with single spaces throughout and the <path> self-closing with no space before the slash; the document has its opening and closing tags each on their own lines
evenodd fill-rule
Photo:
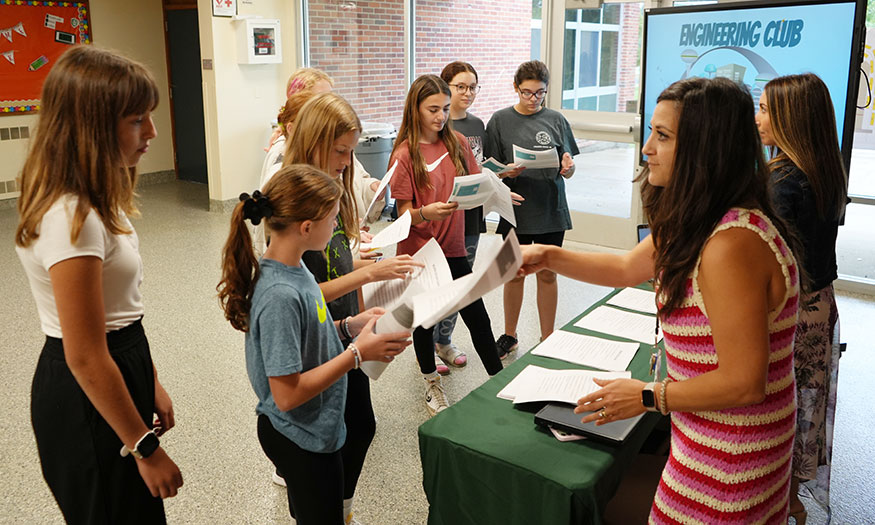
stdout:
<svg viewBox="0 0 875 525">
<path fill-rule="evenodd" d="M 523 115 L 513 106 L 493 113 L 486 126 L 484 156 L 509 164 L 513 162 L 514 144 L 533 150 L 556 148 L 560 161 L 565 152 L 572 157 L 580 153 L 568 121 L 548 108 L 534 115 Z M 513 207 L 517 233 L 534 235 L 571 229 L 565 179 L 558 169 L 526 169 L 519 177 L 505 178 L 504 183 L 526 199 L 521 206 Z M 505 233 L 509 228 L 510 223 L 502 219 L 498 231 Z"/>
</svg>

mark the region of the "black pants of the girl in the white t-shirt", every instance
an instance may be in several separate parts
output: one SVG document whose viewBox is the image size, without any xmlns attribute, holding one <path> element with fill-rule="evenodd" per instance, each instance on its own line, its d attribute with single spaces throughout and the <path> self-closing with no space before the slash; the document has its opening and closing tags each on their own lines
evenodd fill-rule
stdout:
<svg viewBox="0 0 875 525">
<path fill-rule="evenodd" d="M 140 417 L 152 426 L 155 375 L 139 321 L 106 336 L 110 354 Z M 64 359 L 60 339 L 47 337 L 31 388 L 31 422 L 43 476 L 71 524 L 165 523 L 132 456 L 88 400 Z"/>
</svg>

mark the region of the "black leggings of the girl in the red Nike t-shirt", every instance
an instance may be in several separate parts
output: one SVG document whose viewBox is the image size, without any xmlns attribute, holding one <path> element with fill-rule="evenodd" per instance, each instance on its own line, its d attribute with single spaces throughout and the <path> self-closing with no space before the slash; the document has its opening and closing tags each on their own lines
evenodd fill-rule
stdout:
<svg viewBox="0 0 875 525">
<path fill-rule="evenodd" d="M 453 279 L 458 279 L 471 273 L 471 265 L 465 257 L 447 257 L 450 273 Z M 501 359 L 495 347 L 495 337 L 492 335 L 492 323 L 482 299 L 477 299 L 465 308 L 459 310 L 459 315 L 465 321 L 465 326 L 471 332 L 471 342 L 474 350 L 480 356 L 480 361 L 486 368 L 486 373 L 493 376 L 501 372 Z M 419 370 L 423 374 L 433 374 L 434 365 L 434 327 L 419 327 L 413 331 L 413 348 L 419 361 Z"/>
</svg>

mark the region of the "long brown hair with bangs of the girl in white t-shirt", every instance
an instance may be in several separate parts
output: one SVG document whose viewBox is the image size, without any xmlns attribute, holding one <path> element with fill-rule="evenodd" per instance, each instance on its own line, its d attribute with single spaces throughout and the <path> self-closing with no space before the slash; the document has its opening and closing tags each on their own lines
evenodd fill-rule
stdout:
<svg viewBox="0 0 875 525">
<path fill-rule="evenodd" d="M 122 213 L 135 216 L 136 168 L 125 166 L 119 123 L 158 105 L 158 86 L 141 64 L 93 46 L 69 49 L 43 83 L 39 122 L 24 168 L 15 244 L 39 237 L 46 211 L 62 195 L 78 199 L 70 241 L 76 243 L 91 209 L 113 234 L 130 233 Z"/>
</svg>

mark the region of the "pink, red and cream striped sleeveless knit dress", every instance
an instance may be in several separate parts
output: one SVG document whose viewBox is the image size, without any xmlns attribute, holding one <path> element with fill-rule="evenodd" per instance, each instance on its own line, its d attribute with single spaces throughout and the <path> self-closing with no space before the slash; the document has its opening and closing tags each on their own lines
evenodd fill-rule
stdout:
<svg viewBox="0 0 875 525">
<path fill-rule="evenodd" d="M 741 408 L 671 414 L 671 454 L 650 511 L 652 524 L 787 523 L 796 431 L 796 261 L 778 230 L 758 210 L 731 209 L 711 235 L 727 228 L 758 233 L 784 273 L 783 304 L 769 314 L 766 399 Z M 717 368 L 711 325 L 698 287 L 700 263 L 701 255 L 686 299 L 663 321 L 668 375 L 675 381 Z M 671 394 L 668 402 L 671 407 Z"/>
</svg>

